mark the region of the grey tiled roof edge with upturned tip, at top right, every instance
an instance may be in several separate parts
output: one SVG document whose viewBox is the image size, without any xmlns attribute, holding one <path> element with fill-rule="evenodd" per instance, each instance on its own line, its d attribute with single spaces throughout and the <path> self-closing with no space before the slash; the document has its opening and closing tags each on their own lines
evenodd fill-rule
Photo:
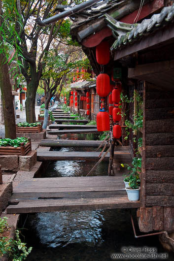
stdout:
<svg viewBox="0 0 174 261">
<path fill-rule="evenodd" d="M 167 26 L 174 20 L 174 4 L 164 7 L 161 13 L 154 14 L 150 19 L 144 19 L 139 24 L 122 23 L 105 14 L 105 22 L 112 30 L 116 41 L 111 46 L 111 50 L 122 48 L 128 43 L 137 41 L 140 37 Z"/>
</svg>

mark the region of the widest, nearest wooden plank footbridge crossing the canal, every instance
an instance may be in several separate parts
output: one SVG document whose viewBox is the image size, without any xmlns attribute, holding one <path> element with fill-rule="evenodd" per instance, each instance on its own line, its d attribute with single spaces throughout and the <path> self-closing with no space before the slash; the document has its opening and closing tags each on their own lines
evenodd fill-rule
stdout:
<svg viewBox="0 0 174 261">
<path fill-rule="evenodd" d="M 128 200 L 123 177 L 109 176 L 35 178 L 21 182 L 9 203 L 7 214 L 140 207 Z"/>
</svg>

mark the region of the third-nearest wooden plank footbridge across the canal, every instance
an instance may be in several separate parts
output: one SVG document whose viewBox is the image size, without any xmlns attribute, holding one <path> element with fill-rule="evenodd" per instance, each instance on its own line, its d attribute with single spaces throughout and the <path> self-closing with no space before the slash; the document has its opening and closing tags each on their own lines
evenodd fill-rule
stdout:
<svg viewBox="0 0 174 261">
<path fill-rule="evenodd" d="M 101 140 L 70 140 L 70 139 L 42 139 L 40 146 L 45 147 L 94 147 L 98 148 L 103 141 Z M 103 142 L 102 147 L 106 142 Z"/>
</svg>

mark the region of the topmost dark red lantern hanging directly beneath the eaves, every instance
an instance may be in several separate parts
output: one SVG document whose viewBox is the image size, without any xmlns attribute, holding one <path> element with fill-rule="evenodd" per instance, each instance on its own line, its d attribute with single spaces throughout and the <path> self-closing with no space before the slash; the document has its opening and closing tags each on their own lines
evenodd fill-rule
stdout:
<svg viewBox="0 0 174 261">
<path fill-rule="evenodd" d="M 108 64 L 109 59 L 110 59 L 109 43 L 103 41 L 96 46 L 96 60 L 99 65 L 106 65 Z"/>
</svg>

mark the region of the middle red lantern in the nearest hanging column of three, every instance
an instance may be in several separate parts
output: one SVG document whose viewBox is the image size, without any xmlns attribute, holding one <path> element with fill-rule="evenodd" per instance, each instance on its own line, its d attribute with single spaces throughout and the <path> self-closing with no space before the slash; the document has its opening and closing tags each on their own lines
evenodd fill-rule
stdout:
<svg viewBox="0 0 174 261">
<path fill-rule="evenodd" d="M 96 81 L 97 94 L 106 97 L 110 93 L 110 78 L 106 73 L 100 73 Z"/>
</svg>

